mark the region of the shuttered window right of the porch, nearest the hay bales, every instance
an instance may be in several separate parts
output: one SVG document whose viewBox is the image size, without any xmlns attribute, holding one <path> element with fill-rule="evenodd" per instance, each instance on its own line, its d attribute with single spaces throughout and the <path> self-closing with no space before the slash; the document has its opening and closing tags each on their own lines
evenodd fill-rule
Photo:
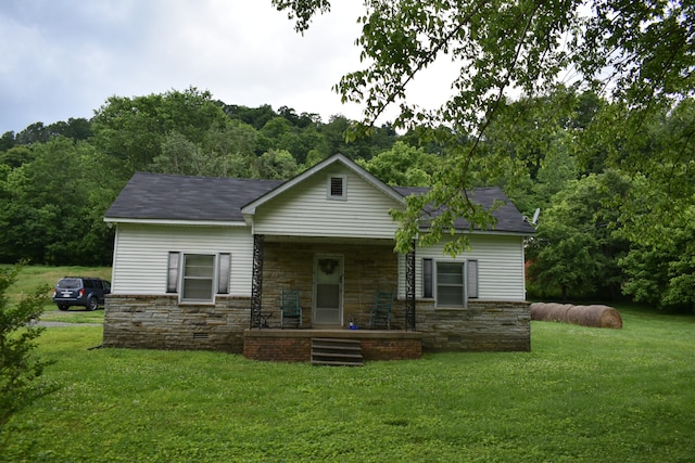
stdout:
<svg viewBox="0 0 695 463">
<path fill-rule="evenodd" d="M 422 297 L 434 297 L 440 307 L 466 307 L 478 297 L 478 261 L 422 259 Z"/>
</svg>

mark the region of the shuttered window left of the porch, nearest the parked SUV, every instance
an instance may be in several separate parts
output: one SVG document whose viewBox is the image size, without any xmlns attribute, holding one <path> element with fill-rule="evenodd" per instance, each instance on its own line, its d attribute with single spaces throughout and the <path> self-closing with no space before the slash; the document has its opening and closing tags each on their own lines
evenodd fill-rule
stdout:
<svg viewBox="0 0 695 463">
<path fill-rule="evenodd" d="M 182 266 L 181 266 L 182 263 Z M 179 293 L 184 303 L 213 303 L 217 294 L 229 293 L 229 253 L 168 255 L 166 292 Z"/>
</svg>

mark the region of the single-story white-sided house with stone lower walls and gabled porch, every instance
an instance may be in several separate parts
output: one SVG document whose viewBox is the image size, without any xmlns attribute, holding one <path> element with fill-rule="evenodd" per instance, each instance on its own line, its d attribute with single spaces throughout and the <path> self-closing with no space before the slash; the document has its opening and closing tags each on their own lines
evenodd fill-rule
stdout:
<svg viewBox="0 0 695 463">
<path fill-rule="evenodd" d="M 422 191 L 340 154 L 285 182 L 138 172 L 104 218 L 116 234 L 103 344 L 281 360 L 304 360 L 319 335 L 361 339 L 366 358 L 529 350 L 533 228 L 500 189 L 477 189 L 475 202 L 504 205 L 492 230 L 459 223 L 469 250 L 396 254 L 389 211 Z M 279 330 L 282 288 L 300 292 L 296 329 Z M 378 291 L 393 292 L 391 326 L 367 330 Z"/>
</svg>

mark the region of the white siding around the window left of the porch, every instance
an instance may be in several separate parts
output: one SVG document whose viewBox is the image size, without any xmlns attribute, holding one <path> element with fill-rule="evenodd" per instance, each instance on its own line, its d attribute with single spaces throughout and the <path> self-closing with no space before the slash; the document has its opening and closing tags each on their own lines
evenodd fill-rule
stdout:
<svg viewBox="0 0 695 463">
<path fill-rule="evenodd" d="M 119 223 L 112 275 L 114 294 L 166 294 L 169 252 L 231 253 L 229 294 L 251 295 L 253 237 L 248 227 Z"/>
</svg>

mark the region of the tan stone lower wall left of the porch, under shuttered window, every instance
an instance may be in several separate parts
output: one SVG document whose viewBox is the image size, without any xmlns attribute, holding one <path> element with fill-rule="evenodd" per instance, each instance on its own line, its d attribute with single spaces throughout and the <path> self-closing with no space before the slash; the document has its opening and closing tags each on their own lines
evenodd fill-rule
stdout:
<svg viewBox="0 0 695 463">
<path fill-rule="evenodd" d="M 248 297 L 217 295 L 215 305 L 179 305 L 174 295 L 109 295 L 103 345 L 241 353 L 250 307 Z"/>
</svg>

